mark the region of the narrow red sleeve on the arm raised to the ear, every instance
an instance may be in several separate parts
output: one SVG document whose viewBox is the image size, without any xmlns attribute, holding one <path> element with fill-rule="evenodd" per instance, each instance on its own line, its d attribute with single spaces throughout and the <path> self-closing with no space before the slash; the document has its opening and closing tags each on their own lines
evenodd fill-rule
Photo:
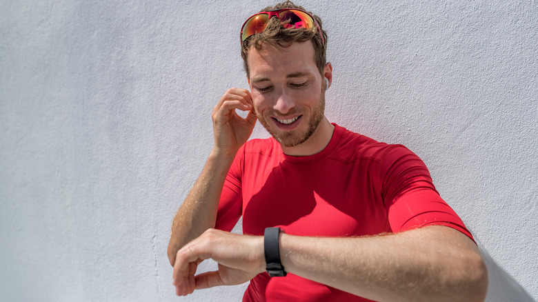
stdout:
<svg viewBox="0 0 538 302">
<path fill-rule="evenodd" d="M 239 218 L 243 204 L 241 192 L 241 171 L 243 166 L 244 145 L 237 152 L 228 170 L 219 199 L 219 210 L 215 228 L 230 232 Z"/>
</svg>

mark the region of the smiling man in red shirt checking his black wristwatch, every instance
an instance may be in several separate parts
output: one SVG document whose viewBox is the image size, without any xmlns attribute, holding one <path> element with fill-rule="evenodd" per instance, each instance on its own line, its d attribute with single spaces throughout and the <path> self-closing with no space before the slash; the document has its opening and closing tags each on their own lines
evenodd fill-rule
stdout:
<svg viewBox="0 0 538 302">
<path fill-rule="evenodd" d="M 250 280 L 243 301 L 484 301 L 481 254 L 424 163 L 324 116 L 326 43 L 289 1 L 243 25 L 250 92 L 212 112 L 214 147 L 172 223 L 177 294 Z M 272 138 L 248 141 L 257 119 Z M 204 259 L 219 270 L 195 276 Z"/>
</svg>

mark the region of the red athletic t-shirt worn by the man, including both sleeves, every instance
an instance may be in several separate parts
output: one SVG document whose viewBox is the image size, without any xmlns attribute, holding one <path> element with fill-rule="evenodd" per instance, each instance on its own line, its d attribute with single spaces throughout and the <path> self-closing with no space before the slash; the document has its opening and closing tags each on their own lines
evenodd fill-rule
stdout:
<svg viewBox="0 0 538 302">
<path fill-rule="evenodd" d="M 335 125 L 308 157 L 283 154 L 275 139 L 237 153 L 223 187 L 216 228 L 263 235 L 279 226 L 300 236 L 363 236 L 448 225 L 470 232 L 439 197 L 424 162 L 403 145 L 379 143 Z M 294 274 L 257 275 L 243 301 L 369 301 Z"/>
</svg>

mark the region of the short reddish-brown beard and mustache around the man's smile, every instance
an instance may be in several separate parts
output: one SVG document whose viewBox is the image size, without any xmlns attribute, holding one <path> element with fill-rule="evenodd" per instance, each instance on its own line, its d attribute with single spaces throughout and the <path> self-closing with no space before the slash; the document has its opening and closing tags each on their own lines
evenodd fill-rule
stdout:
<svg viewBox="0 0 538 302">
<path fill-rule="evenodd" d="M 256 110 L 256 115 L 258 117 L 259 122 L 261 125 L 263 125 L 263 128 L 266 128 L 266 130 L 274 137 L 281 145 L 284 147 L 295 147 L 296 145 L 300 145 L 301 143 L 304 143 L 310 137 L 312 137 L 312 134 L 316 132 L 317 128 L 319 127 L 319 123 L 323 120 L 323 114 L 325 112 L 325 91 L 321 91 L 321 95 L 319 97 L 319 101 L 317 104 L 312 108 L 312 112 L 310 114 L 310 119 L 308 122 L 308 127 L 304 131 L 300 130 L 292 130 L 287 131 L 285 133 L 277 133 L 277 131 L 272 130 L 270 127 L 268 121 Z M 268 115 L 283 115 L 275 110 L 271 110 L 268 112 Z M 276 113 L 276 114 L 275 114 Z M 299 110 L 296 110 L 293 108 L 290 110 L 287 114 L 297 114 L 299 113 Z M 305 115 L 303 114 L 301 116 L 301 119 L 303 119 Z"/>
</svg>

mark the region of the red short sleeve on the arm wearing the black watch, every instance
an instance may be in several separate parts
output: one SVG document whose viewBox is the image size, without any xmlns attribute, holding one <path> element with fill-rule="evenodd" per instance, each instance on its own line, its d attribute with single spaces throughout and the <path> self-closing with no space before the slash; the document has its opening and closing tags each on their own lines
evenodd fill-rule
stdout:
<svg viewBox="0 0 538 302">
<path fill-rule="evenodd" d="M 446 225 L 474 241 L 456 212 L 439 196 L 430 172 L 403 145 L 390 145 L 381 160 L 382 195 L 392 232 Z"/>
</svg>

